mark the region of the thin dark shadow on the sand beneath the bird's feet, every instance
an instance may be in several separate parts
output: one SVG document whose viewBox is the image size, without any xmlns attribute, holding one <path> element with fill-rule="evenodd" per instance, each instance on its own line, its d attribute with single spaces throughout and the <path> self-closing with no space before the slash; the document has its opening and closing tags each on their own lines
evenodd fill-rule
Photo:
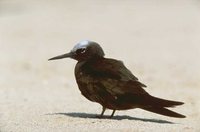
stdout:
<svg viewBox="0 0 200 132">
<path fill-rule="evenodd" d="M 69 112 L 69 113 L 52 113 L 47 115 L 65 115 L 75 118 L 90 118 L 90 119 L 100 119 L 97 117 L 96 114 L 88 114 L 88 113 L 75 113 L 75 112 Z M 110 116 L 104 116 L 101 119 L 110 119 L 110 120 L 135 120 L 135 121 L 143 121 L 143 122 L 152 122 L 152 123 L 160 123 L 160 124 L 175 124 L 174 122 L 166 121 L 166 120 L 159 120 L 159 119 L 146 119 L 146 118 L 138 118 L 138 117 L 131 117 L 126 115 L 118 115 L 114 116 L 113 118 L 110 118 Z"/>
</svg>

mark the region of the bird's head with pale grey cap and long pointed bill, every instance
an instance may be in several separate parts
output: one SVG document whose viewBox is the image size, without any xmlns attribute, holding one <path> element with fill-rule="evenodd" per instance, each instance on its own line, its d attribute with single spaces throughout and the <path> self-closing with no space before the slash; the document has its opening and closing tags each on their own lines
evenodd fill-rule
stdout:
<svg viewBox="0 0 200 132">
<path fill-rule="evenodd" d="M 72 58 L 77 61 L 85 61 L 102 57 L 104 57 L 104 52 L 98 43 L 84 40 L 76 44 L 69 53 L 50 58 L 49 60 Z"/>
</svg>

